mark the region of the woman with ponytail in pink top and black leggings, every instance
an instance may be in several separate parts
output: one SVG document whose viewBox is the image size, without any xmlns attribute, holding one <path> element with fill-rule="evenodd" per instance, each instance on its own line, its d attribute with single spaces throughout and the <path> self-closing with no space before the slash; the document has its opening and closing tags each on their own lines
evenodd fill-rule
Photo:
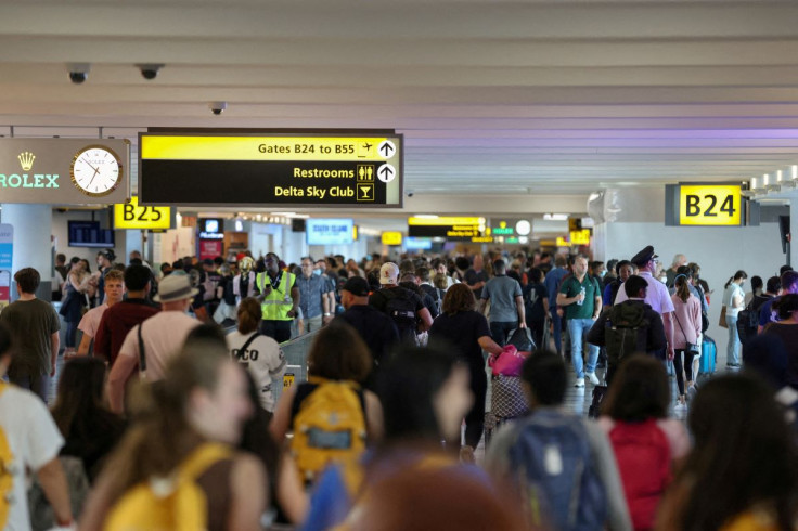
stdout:
<svg viewBox="0 0 798 531">
<path fill-rule="evenodd" d="M 698 338 L 702 334 L 702 305 L 698 298 L 690 293 L 690 281 L 691 273 L 688 270 L 678 274 L 673 279 L 675 293 L 671 295 L 675 321 L 673 326 L 673 350 L 677 355 L 673 358 L 673 366 L 677 373 L 677 385 L 679 386 L 678 407 L 685 407 L 687 403 L 685 377 L 687 389 L 693 387 L 693 358 L 698 353 Z M 682 358 L 684 359 L 682 360 Z"/>
</svg>

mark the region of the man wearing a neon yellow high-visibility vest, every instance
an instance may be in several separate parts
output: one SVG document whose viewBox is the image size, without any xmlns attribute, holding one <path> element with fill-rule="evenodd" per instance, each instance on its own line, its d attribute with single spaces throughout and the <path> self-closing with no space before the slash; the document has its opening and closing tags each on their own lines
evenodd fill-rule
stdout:
<svg viewBox="0 0 798 531">
<path fill-rule="evenodd" d="M 280 257 L 266 255 L 266 272 L 255 277 L 257 299 L 260 302 L 260 333 L 278 342 L 291 339 L 291 322 L 297 316 L 299 288 L 296 275 L 280 270 Z"/>
</svg>

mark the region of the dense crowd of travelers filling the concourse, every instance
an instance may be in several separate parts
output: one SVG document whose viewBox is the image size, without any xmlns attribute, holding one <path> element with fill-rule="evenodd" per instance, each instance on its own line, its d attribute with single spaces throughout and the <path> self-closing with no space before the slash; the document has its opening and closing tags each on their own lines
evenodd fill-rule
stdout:
<svg viewBox="0 0 798 531">
<path fill-rule="evenodd" d="M 790 268 L 748 294 L 732 274 L 709 374 L 713 292 L 653 246 L 296 258 L 62 255 L 59 305 L 16 271 L 0 527 L 798 529 Z M 284 378 L 297 338 L 304 381 Z M 488 440 L 500 384 L 523 413 Z M 588 386 L 594 418 L 566 406 Z"/>
</svg>

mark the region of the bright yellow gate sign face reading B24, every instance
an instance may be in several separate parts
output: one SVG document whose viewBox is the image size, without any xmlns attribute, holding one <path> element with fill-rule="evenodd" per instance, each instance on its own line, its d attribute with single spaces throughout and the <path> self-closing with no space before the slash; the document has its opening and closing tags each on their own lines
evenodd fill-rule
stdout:
<svg viewBox="0 0 798 531">
<path fill-rule="evenodd" d="M 734 184 L 681 185 L 679 224 L 734 226 L 741 224 L 741 186 Z"/>
</svg>

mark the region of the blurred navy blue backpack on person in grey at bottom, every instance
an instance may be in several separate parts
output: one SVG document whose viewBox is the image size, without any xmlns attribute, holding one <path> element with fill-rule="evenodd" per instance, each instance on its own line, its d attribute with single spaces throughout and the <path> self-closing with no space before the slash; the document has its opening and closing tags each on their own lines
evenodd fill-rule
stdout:
<svg viewBox="0 0 798 531">
<path fill-rule="evenodd" d="M 514 429 L 510 469 L 517 475 L 530 524 L 550 523 L 563 531 L 604 529 L 607 495 L 582 420 L 543 410 Z"/>
</svg>

